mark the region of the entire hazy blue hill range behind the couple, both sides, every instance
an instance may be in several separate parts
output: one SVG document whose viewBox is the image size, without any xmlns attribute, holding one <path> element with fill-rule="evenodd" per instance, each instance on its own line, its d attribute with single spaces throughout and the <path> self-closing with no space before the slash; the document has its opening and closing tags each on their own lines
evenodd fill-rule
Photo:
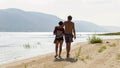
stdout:
<svg viewBox="0 0 120 68">
<path fill-rule="evenodd" d="M 1 32 L 51 32 L 59 21 L 62 21 L 62 19 L 55 15 L 40 12 L 26 12 L 15 8 L 0 10 Z M 87 21 L 74 22 L 76 31 L 111 31 L 109 27 L 106 28 Z"/>
</svg>

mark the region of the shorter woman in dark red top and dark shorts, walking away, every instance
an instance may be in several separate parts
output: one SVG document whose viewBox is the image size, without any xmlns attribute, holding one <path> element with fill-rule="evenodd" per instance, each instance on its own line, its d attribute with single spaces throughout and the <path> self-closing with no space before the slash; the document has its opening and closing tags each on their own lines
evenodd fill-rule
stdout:
<svg viewBox="0 0 120 68">
<path fill-rule="evenodd" d="M 63 35 L 64 35 L 64 28 L 63 28 L 63 22 L 60 21 L 59 23 L 59 26 L 56 26 L 55 29 L 54 29 L 54 35 L 55 35 L 55 40 L 54 40 L 54 43 L 55 43 L 55 52 L 56 52 L 56 55 L 55 55 L 55 58 L 57 58 L 57 56 L 59 58 L 61 58 L 61 51 L 62 51 L 62 44 L 63 44 Z M 59 55 L 58 55 L 58 48 L 59 48 Z"/>
</svg>

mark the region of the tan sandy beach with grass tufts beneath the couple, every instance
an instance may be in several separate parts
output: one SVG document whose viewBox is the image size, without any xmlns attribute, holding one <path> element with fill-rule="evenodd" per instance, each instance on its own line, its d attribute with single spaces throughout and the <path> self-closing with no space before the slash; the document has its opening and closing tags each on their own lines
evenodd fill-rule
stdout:
<svg viewBox="0 0 120 68">
<path fill-rule="evenodd" d="M 120 68 L 120 39 L 104 40 L 100 44 L 77 43 L 72 45 L 68 59 L 64 49 L 62 59 L 55 59 L 54 53 L 50 53 L 0 65 L 0 68 Z"/>
</svg>

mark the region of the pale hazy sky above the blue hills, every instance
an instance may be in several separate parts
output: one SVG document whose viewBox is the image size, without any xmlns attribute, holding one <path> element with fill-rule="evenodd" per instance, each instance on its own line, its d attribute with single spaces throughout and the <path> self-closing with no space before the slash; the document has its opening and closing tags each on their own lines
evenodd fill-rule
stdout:
<svg viewBox="0 0 120 68">
<path fill-rule="evenodd" d="M 90 21 L 98 25 L 120 26 L 120 0 L 0 0 L 0 9 L 19 8 Z"/>
</svg>

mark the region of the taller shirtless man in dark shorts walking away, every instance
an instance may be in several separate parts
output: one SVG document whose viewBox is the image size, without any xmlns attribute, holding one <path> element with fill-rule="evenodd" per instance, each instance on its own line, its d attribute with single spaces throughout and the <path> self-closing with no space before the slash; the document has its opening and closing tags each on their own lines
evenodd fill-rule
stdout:
<svg viewBox="0 0 120 68">
<path fill-rule="evenodd" d="M 65 42 L 66 42 L 66 57 L 70 56 L 71 42 L 73 42 L 73 37 L 76 39 L 75 25 L 71 21 L 72 16 L 68 16 L 68 20 L 64 22 L 63 26 L 65 27 Z"/>
</svg>

